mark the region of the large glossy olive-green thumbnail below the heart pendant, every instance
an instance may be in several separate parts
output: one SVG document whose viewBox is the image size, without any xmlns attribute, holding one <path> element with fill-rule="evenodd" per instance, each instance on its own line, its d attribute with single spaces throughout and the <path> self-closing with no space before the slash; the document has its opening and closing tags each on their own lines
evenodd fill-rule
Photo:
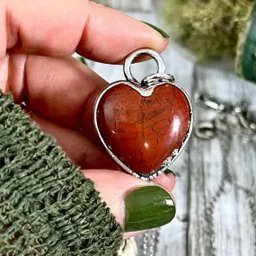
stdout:
<svg viewBox="0 0 256 256">
<path fill-rule="evenodd" d="M 151 229 L 172 221 L 176 207 L 172 197 L 160 187 L 146 186 L 125 198 L 125 232 Z"/>
</svg>

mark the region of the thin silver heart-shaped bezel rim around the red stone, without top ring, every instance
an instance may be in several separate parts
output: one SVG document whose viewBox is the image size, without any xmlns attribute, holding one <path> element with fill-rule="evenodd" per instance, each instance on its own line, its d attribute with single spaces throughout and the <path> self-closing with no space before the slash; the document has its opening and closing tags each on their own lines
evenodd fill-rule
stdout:
<svg viewBox="0 0 256 256">
<path fill-rule="evenodd" d="M 165 74 L 164 74 L 165 75 Z M 161 78 L 162 74 L 156 74 L 156 76 L 158 76 L 159 78 Z M 171 80 L 172 81 L 172 80 Z M 185 95 L 187 101 L 189 102 L 189 106 L 190 106 L 190 122 L 188 124 L 188 130 L 187 130 L 187 134 L 184 137 L 181 146 L 179 148 L 176 148 L 173 150 L 172 154 L 163 161 L 163 163 L 161 164 L 161 167 L 159 170 L 154 170 L 152 172 L 149 173 L 137 173 L 134 172 L 133 170 L 131 170 L 125 163 L 123 163 L 119 157 L 115 154 L 113 154 L 113 152 L 110 149 L 110 146 L 106 145 L 104 138 L 101 135 L 100 129 L 98 127 L 98 121 L 97 121 L 97 117 L 98 117 L 98 106 L 99 103 L 101 102 L 102 96 L 104 95 L 104 93 L 106 93 L 107 91 L 109 91 L 111 88 L 118 86 L 120 84 L 125 84 L 128 85 L 129 87 L 133 88 L 134 90 L 136 90 L 138 93 L 140 93 L 142 96 L 144 97 L 148 97 L 150 96 L 152 93 L 154 93 L 154 88 L 157 86 L 161 86 L 163 84 L 169 84 L 171 86 L 175 86 L 177 89 L 181 90 L 181 92 Z M 155 83 L 152 84 L 151 86 L 149 86 L 146 89 L 141 88 L 140 84 L 136 83 L 136 82 L 128 82 L 128 81 L 118 81 L 115 82 L 113 84 L 110 84 L 98 97 L 98 99 L 95 102 L 94 105 L 94 112 L 93 112 L 93 122 L 94 122 L 94 126 L 96 128 L 97 134 L 100 137 L 100 140 L 102 142 L 102 145 L 105 147 L 105 149 L 107 150 L 108 154 L 110 154 L 110 156 L 113 158 L 113 160 L 119 164 L 119 166 L 122 167 L 122 169 L 124 169 L 125 171 L 127 171 L 128 173 L 132 174 L 133 176 L 140 178 L 142 180 L 145 181 L 150 181 L 153 180 L 154 178 L 156 178 L 159 174 L 163 173 L 164 171 L 166 171 L 168 168 L 170 168 L 170 165 L 176 160 L 176 158 L 178 157 L 179 154 L 181 154 L 181 151 L 183 150 L 184 146 L 187 144 L 187 142 L 190 139 L 190 135 L 192 132 L 192 127 L 193 127 L 193 111 L 192 111 L 192 106 L 191 106 L 191 102 L 190 102 L 190 98 L 188 97 L 187 93 L 178 85 L 173 84 L 171 82 L 167 82 L 167 81 L 163 81 L 160 83 Z"/>
</svg>

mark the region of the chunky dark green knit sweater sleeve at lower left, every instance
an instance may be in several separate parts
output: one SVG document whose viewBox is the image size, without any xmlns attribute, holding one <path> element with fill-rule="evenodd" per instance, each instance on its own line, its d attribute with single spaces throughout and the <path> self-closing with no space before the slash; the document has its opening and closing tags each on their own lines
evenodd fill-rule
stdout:
<svg viewBox="0 0 256 256">
<path fill-rule="evenodd" d="M 116 255 L 122 231 L 93 182 L 0 93 L 0 255 Z"/>
</svg>

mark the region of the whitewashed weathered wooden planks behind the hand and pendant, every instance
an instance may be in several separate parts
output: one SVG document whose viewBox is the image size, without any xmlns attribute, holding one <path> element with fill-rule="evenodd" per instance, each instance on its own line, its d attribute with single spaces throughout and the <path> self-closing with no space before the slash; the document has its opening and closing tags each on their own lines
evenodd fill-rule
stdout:
<svg viewBox="0 0 256 256">
<path fill-rule="evenodd" d="M 138 20 L 159 22 L 147 0 L 98 2 Z M 172 44 L 163 58 L 176 84 L 189 93 L 196 124 L 215 113 L 196 106 L 194 93 L 208 93 L 224 102 L 246 100 L 256 111 L 255 84 L 232 72 L 199 66 Z M 89 65 L 109 82 L 124 78 L 121 66 Z M 155 70 L 152 61 L 137 66 L 135 75 Z M 177 173 L 177 216 L 161 228 L 156 256 L 256 256 L 256 145 L 234 133 L 212 140 L 193 135 L 172 169 Z"/>
</svg>

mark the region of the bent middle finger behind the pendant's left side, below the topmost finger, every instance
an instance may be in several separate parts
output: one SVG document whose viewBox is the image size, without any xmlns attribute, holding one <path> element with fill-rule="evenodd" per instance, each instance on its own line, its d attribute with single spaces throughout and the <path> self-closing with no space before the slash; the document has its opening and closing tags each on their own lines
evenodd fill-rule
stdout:
<svg viewBox="0 0 256 256">
<path fill-rule="evenodd" d="M 15 102 L 69 128 L 93 126 L 93 104 L 108 84 L 73 57 L 9 57 L 8 91 Z M 87 131 L 86 131 L 87 132 Z"/>
</svg>

